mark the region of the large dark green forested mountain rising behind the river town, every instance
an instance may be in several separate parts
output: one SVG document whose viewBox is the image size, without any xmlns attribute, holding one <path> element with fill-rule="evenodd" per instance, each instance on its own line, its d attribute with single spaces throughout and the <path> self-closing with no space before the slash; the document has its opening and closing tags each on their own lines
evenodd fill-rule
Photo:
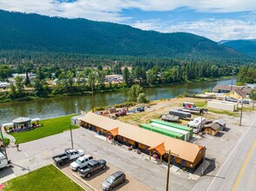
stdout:
<svg viewBox="0 0 256 191">
<path fill-rule="evenodd" d="M 246 59 L 238 51 L 189 33 L 159 33 L 117 23 L 0 10 L 0 49 L 112 56 Z"/>
</svg>

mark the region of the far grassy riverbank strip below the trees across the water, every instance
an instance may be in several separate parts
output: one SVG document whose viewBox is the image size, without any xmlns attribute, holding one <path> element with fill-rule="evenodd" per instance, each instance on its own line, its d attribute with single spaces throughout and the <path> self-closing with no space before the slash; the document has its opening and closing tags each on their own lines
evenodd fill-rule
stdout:
<svg viewBox="0 0 256 191">
<path fill-rule="evenodd" d="M 219 81 L 219 80 L 226 80 L 226 79 L 231 79 L 232 76 L 221 76 L 221 77 L 216 77 L 216 78 L 198 78 L 198 79 L 193 79 L 191 81 L 186 81 L 186 82 L 174 82 L 174 83 L 165 83 L 165 84 L 154 84 L 154 85 L 145 85 L 142 86 L 143 88 L 158 88 L 158 87 L 168 87 L 168 86 L 173 86 L 173 85 L 179 85 L 179 84 L 189 84 L 189 83 L 194 83 L 194 82 L 214 82 L 214 81 Z M 95 94 L 106 94 L 106 93 L 117 93 L 117 92 L 127 92 L 129 89 L 128 87 L 125 86 L 125 83 L 118 83 L 119 88 L 114 88 L 114 89 L 101 89 L 101 90 L 95 90 Z M 2 92 L 3 94 L 3 92 Z M 88 96 L 91 95 L 91 91 L 83 91 L 83 92 L 74 92 L 74 93 L 68 93 L 68 94 L 57 94 L 57 95 L 45 95 L 45 96 L 35 96 L 35 95 L 29 95 L 29 96 L 24 96 L 20 98 L 6 98 L 6 99 L 0 99 L 0 103 L 4 102 L 28 102 L 28 101 L 36 101 L 40 99 L 48 99 L 48 98 L 55 98 L 55 97 L 64 97 L 64 96 Z"/>
</svg>

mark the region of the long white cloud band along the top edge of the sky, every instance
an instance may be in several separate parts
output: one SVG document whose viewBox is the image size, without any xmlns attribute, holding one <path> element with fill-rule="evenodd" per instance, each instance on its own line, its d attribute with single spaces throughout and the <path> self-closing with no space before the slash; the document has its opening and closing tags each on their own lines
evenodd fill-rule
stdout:
<svg viewBox="0 0 256 191">
<path fill-rule="evenodd" d="M 84 17 L 91 20 L 121 22 L 122 10 L 167 11 L 187 7 L 200 12 L 256 11 L 255 0 L 1 0 L 0 8 L 48 16 Z"/>
</svg>

